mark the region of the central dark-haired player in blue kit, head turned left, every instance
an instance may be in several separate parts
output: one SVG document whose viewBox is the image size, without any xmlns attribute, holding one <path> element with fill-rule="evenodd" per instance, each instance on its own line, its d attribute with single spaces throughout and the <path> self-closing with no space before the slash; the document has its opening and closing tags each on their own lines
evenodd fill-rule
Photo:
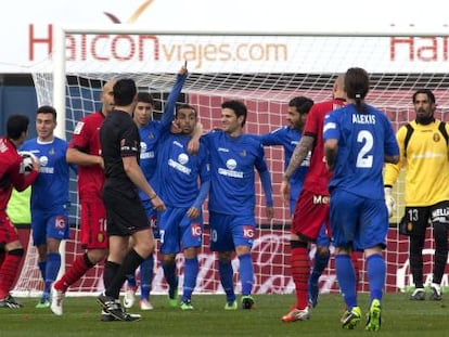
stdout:
<svg viewBox="0 0 449 337">
<path fill-rule="evenodd" d="M 221 104 L 221 130 L 203 135 L 210 154 L 209 222 L 210 250 L 218 251 L 218 267 L 224 289 L 226 310 L 238 309 L 235 300 L 233 251 L 240 261 L 242 308 L 252 309 L 253 258 L 251 249 L 256 231 L 255 172 L 259 172 L 266 196 L 267 217 L 273 216 L 271 178 L 261 143 L 243 133 L 246 106 L 239 101 Z"/>
</svg>

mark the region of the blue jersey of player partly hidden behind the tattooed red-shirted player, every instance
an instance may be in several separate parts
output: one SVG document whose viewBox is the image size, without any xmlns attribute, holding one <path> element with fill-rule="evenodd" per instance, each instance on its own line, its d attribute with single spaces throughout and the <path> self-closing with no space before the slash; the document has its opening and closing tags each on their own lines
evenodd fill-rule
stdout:
<svg viewBox="0 0 449 337">
<path fill-rule="evenodd" d="M 299 143 L 302 133 L 297 129 L 293 129 L 288 126 L 281 127 L 259 135 L 262 145 L 272 146 L 281 145 L 284 148 L 284 170 L 288 167 L 290 160 L 292 159 L 293 152 L 296 148 L 296 145 Z M 310 166 L 310 153 L 303 160 L 300 167 L 292 174 L 290 178 L 290 210 L 293 213 L 296 199 L 299 192 L 303 190 L 304 178 L 306 177 L 307 171 Z"/>
</svg>

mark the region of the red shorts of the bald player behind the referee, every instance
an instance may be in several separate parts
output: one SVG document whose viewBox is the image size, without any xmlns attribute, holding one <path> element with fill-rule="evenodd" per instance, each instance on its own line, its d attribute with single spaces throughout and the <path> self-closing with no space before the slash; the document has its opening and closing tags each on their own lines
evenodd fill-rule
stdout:
<svg viewBox="0 0 449 337">
<path fill-rule="evenodd" d="M 81 200 L 80 241 L 84 249 L 108 247 L 106 235 L 106 210 L 101 199 Z"/>
</svg>

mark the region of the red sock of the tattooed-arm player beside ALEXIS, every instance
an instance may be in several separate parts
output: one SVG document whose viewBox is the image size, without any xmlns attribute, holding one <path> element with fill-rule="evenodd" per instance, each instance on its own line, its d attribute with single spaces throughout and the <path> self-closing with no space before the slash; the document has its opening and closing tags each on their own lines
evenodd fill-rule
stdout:
<svg viewBox="0 0 449 337">
<path fill-rule="evenodd" d="M 307 307 L 307 282 L 310 274 L 310 262 L 307 249 L 293 248 L 290 262 L 296 290 L 296 309 L 304 309 Z"/>
</svg>

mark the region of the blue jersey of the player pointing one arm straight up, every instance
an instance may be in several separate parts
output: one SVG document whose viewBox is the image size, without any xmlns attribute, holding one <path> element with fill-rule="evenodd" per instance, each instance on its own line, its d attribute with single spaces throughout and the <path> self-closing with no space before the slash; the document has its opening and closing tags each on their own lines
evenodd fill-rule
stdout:
<svg viewBox="0 0 449 337">
<path fill-rule="evenodd" d="M 146 178 L 146 181 L 151 184 L 154 191 L 158 193 L 157 179 L 155 179 L 156 172 L 156 146 L 163 132 L 168 132 L 171 126 L 171 121 L 175 117 L 176 102 L 181 93 L 182 86 L 185 82 L 188 75 L 177 76 L 176 83 L 168 95 L 167 103 L 164 108 L 164 114 L 161 120 L 152 120 L 146 126 L 139 128 L 140 133 L 140 168 Z M 142 200 L 150 200 L 149 196 L 139 191 L 140 198 Z"/>
</svg>

